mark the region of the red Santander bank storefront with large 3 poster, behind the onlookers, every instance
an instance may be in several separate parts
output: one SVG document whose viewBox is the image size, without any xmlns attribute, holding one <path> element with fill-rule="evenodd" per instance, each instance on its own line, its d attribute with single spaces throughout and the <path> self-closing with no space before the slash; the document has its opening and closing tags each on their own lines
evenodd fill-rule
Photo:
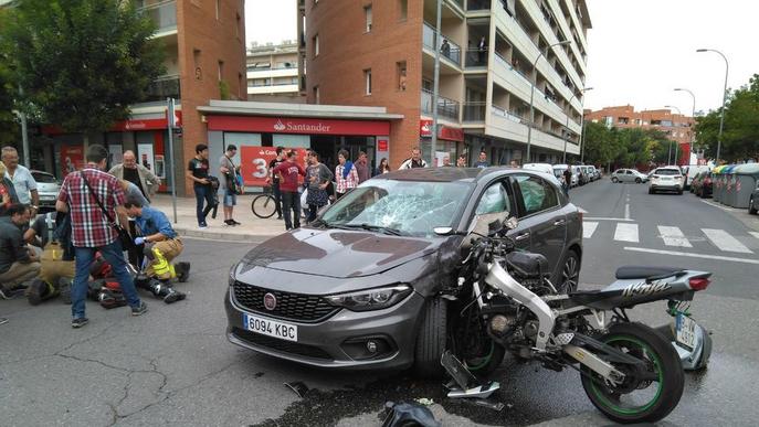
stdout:
<svg viewBox="0 0 759 427">
<path fill-rule="evenodd" d="M 373 169 L 389 158 L 391 126 L 403 118 L 381 107 L 254 102 L 211 100 L 198 111 L 208 126 L 212 163 L 229 145 L 236 146 L 233 161 L 242 166 L 246 186 L 265 184 L 276 147 L 295 149 L 304 164 L 306 150 L 315 150 L 333 171 L 339 150 L 347 150 L 350 160 L 363 151 Z"/>
</svg>

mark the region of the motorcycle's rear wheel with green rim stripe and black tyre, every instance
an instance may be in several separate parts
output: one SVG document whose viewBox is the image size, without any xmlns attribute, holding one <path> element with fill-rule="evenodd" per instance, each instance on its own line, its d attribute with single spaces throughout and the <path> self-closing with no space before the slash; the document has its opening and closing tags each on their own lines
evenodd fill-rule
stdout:
<svg viewBox="0 0 759 427">
<path fill-rule="evenodd" d="M 677 352 L 661 333 L 642 323 L 618 323 L 599 341 L 644 360 L 645 373 L 655 377 L 641 378 L 642 373 L 632 366 L 613 363 L 625 373 L 625 380 L 610 385 L 582 366 L 582 387 L 607 417 L 622 424 L 655 423 L 677 406 L 685 385 L 683 367 Z"/>
</svg>

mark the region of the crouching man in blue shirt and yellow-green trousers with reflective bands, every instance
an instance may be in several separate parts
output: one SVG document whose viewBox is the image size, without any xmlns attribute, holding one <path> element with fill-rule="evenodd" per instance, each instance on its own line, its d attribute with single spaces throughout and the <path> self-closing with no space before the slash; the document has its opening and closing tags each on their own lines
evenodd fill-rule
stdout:
<svg viewBox="0 0 759 427">
<path fill-rule="evenodd" d="M 135 285 L 150 290 L 166 303 L 185 299 L 185 293 L 171 287 L 171 279 L 176 277 L 179 281 L 187 281 L 190 264 L 179 263 L 176 267 L 171 264 L 171 260 L 182 253 L 183 245 L 171 227 L 169 218 L 162 212 L 143 206 L 139 202 L 126 203 L 124 207 L 143 234 L 141 237 L 135 238 L 135 244 L 145 244 L 147 268 L 143 268 L 137 275 Z"/>
</svg>

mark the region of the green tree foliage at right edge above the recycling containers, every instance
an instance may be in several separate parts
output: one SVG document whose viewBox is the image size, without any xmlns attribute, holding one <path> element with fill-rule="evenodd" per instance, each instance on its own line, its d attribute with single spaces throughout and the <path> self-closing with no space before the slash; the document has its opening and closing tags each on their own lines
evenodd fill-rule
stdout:
<svg viewBox="0 0 759 427">
<path fill-rule="evenodd" d="M 696 124 L 696 147 L 706 154 L 717 156 L 719 114 L 721 109 L 699 117 Z M 719 157 L 728 162 L 759 159 L 759 74 L 749 84 L 732 92 L 725 104 L 725 126 Z"/>
</svg>

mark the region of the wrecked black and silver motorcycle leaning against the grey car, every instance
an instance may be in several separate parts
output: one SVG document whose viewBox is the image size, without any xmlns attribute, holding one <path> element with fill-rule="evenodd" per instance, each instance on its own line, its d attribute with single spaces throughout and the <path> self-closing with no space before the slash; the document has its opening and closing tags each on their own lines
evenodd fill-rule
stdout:
<svg viewBox="0 0 759 427">
<path fill-rule="evenodd" d="M 516 226 L 505 213 L 479 215 L 464 237 L 468 254 L 458 280 L 441 296 L 453 312 L 453 353 L 475 374 L 495 370 L 505 352 L 557 372 L 574 369 L 592 404 L 610 419 L 666 417 L 683 394 L 681 357 L 665 335 L 631 321 L 625 310 L 666 300 L 677 319 L 675 341 L 693 348 L 691 334 L 698 329 L 683 305 L 706 289 L 711 274 L 621 267 L 604 289 L 561 293 L 542 255 L 516 249 L 507 236 Z"/>
</svg>

